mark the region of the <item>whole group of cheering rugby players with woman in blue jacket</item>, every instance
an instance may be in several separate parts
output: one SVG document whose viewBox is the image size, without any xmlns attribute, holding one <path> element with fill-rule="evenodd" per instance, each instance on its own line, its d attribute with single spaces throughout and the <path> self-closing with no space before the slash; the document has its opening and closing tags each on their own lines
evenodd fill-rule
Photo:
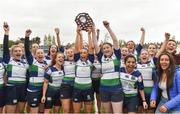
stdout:
<svg viewBox="0 0 180 114">
<path fill-rule="evenodd" d="M 3 58 L 0 62 L 0 113 L 180 113 L 180 54 L 165 33 L 160 49 L 150 43 L 119 46 L 108 21 L 104 27 L 113 43 L 98 44 L 95 25 L 76 29 L 74 45 L 57 45 L 45 55 L 39 44 L 25 41 L 9 45 L 10 27 L 4 22 Z M 95 102 L 96 99 L 96 102 Z M 94 106 L 97 106 L 94 109 Z"/>
</svg>

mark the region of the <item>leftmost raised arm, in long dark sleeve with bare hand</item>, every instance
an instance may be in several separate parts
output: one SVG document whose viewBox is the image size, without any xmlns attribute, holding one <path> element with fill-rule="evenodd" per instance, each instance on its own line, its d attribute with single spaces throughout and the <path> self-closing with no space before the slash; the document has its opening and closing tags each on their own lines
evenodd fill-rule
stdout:
<svg viewBox="0 0 180 114">
<path fill-rule="evenodd" d="M 4 40 L 3 40 L 3 62 L 8 63 L 10 60 L 10 53 L 9 53 L 9 25 L 7 22 L 4 22 L 3 25 L 4 29 Z"/>
</svg>

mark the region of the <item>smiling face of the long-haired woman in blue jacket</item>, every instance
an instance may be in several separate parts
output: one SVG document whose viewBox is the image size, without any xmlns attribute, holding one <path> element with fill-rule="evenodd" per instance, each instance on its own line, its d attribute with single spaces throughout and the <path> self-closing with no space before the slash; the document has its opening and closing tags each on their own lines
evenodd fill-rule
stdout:
<svg viewBox="0 0 180 114">
<path fill-rule="evenodd" d="M 166 71 L 170 66 L 170 58 L 168 55 L 162 55 L 159 62 L 163 71 Z"/>
</svg>

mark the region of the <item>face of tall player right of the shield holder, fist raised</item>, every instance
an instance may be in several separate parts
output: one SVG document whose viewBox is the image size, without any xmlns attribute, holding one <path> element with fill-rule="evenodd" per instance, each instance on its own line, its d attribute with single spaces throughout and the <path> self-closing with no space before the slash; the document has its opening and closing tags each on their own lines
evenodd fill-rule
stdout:
<svg viewBox="0 0 180 114">
<path fill-rule="evenodd" d="M 103 53 L 106 57 L 111 57 L 113 54 L 113 48 L 109 44 L 103 44 Z"/>
</svg>

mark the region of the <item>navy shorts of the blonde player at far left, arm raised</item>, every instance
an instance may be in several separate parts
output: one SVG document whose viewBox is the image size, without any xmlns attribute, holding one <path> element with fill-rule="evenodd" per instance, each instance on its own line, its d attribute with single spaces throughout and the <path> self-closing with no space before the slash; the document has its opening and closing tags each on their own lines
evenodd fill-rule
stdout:
<svg viewBox="0 0 180 114">
<path fill-rule="evenodd" d="M 15 105 L 18 102 L 26 102 L 27 85 L 13 85 L 5 87 L 6 105 Z"/>
</svg>

